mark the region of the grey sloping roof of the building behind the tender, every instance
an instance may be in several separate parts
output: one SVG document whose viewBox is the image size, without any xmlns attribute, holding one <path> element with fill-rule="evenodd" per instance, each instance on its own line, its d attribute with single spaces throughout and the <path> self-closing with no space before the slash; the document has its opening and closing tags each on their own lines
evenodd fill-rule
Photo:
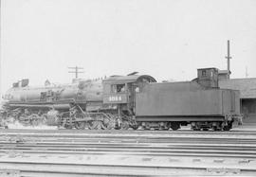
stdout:
<svg viewBox="0 0 256 177">
<path fill-rule="evenodd" d="M 219 87 L 240 90 L 241 98 L 256 98 L 256 78 L 220 80 Z"/>
</svg>

